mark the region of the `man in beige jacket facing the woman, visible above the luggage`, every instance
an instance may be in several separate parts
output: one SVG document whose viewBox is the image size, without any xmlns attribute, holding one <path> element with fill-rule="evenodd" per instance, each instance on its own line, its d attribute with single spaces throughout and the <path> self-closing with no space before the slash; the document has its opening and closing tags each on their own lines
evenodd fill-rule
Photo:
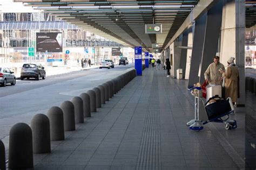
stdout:
<svg viewBox="0 0 256 170">
<path fill-rule="evenodd" d="M 219 69 L 222 69 L 225 72 L 225 67 L 222 63 L 219 62 L 219 56 L 213 57 L 213 63 L 211 63 L 205 71 L 205 81 L 209 84 L 221 86 L 223 83 L 222 75 L 219 72 Z"/>
</svg>

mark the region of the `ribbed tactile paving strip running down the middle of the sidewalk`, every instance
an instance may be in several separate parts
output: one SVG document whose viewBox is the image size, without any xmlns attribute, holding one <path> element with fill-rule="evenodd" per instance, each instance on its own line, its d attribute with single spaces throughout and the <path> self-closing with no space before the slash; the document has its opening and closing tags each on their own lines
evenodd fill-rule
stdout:
<svg viewBox="0 0 256 170">
<path fill-rule="evenodd" d="M 161 169 L 159 95 L 153 80 L 136 169 Z"/>
</svg>

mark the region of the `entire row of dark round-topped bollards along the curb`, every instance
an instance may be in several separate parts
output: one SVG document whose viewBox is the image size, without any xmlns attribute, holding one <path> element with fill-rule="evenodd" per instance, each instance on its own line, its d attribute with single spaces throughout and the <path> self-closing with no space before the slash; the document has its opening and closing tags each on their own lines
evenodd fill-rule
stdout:
<svg viewBox="0 0 256 170">
<path fill-rule="evenodd" d="M 60 107 L 51 107 L 47 114 L 33 116 L 30 126 L 17 123 L 9 134 L 10 169 L 33 168 L 33 153 L 50 153 L 51 142 L 65 140 L 64 131 L 75 131 L 76 123 L 84 123 L 102 104 L 109 101 L 127 83 L 136 77 L 136 70 L 123 75 L 64 101 Z M 5 147 L 0 140 L 0 169 L 5 169 Z"/>
</svg>

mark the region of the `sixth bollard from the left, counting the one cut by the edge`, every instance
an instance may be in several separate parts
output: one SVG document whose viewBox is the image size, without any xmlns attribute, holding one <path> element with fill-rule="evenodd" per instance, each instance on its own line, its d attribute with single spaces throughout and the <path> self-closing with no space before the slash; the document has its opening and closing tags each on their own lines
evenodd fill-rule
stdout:
<svg viewBox="0 0 256 170">
<path fill-rule="evenodd" d="M 81 97 L 75 96 L 71 98 L 71 102 L 75 107 L 75 122 L 84 123 L 84 104 Z"/>
</svg>

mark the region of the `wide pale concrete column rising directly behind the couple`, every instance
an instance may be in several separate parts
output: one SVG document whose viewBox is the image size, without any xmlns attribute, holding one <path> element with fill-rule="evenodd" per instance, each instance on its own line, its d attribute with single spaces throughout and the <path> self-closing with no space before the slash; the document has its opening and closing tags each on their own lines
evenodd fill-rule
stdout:
<svg viewBox="0 0 256 170">
<path fill-rule="evenodd" d="M 240 98 L 237 105 L 245 104 L 245 0 L 223 0 L 220 61 L 227 66 L 231 56 L 240 74 Z"/>
</svg>

